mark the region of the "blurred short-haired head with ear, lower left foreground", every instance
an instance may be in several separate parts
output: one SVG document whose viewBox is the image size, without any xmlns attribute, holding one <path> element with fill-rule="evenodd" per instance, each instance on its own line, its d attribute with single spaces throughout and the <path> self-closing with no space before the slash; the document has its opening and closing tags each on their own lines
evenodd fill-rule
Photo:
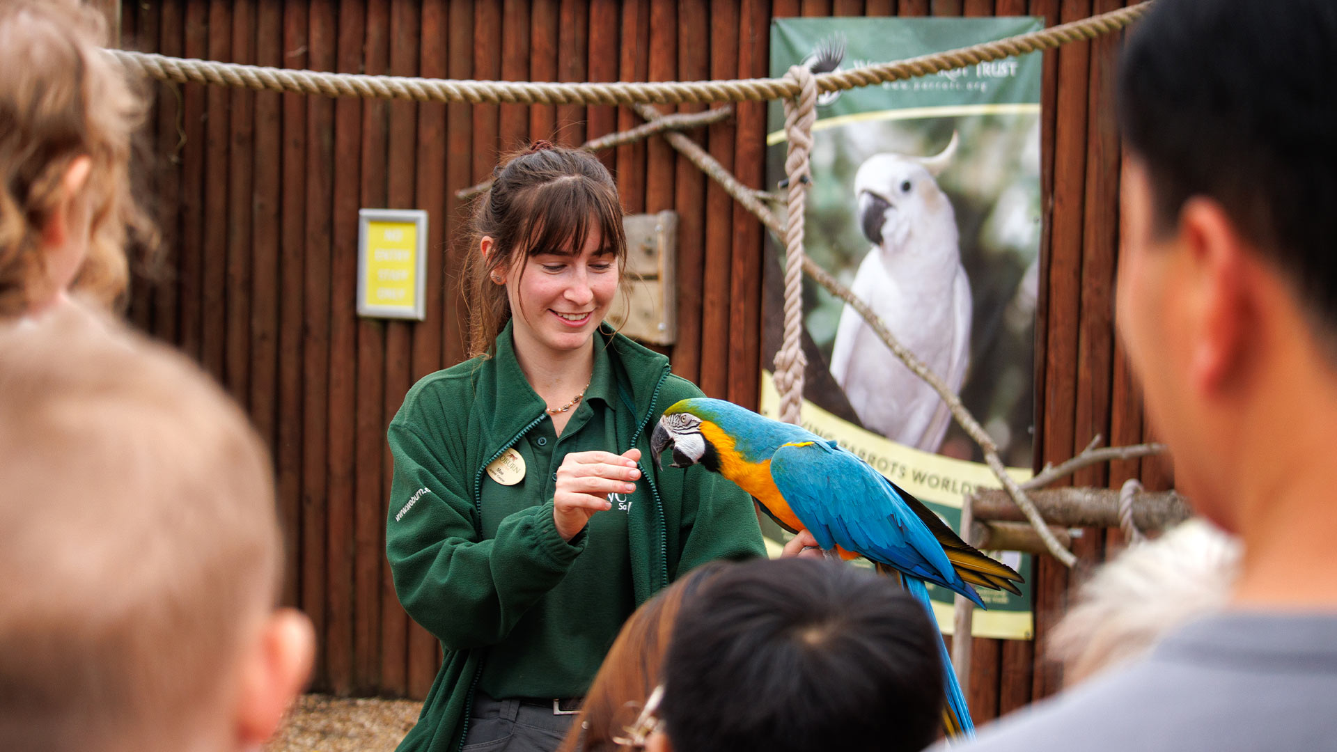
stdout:
<svg viewBox="0 0 1337 752">
<path fill-rule="evenodd" d="M 273 613 L 269 460 L 222 391 L 63 305 L 0 326 L 0 749 L 267 736 L 310 636 Z"/>
</svg>

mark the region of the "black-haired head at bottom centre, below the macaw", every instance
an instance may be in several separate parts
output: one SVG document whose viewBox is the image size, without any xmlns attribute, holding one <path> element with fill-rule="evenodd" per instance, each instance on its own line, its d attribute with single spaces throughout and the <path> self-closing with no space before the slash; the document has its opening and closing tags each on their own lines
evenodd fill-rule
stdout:
<svg viewBox="0 0 1337 752">
<path fill-rule="evenodd" d="M 678 616 L 660 729 L 679 752 L 923 749 L 940 723 L 937 640 L 892 579 L 814 559 L 738 565 Z"/>
</svg>

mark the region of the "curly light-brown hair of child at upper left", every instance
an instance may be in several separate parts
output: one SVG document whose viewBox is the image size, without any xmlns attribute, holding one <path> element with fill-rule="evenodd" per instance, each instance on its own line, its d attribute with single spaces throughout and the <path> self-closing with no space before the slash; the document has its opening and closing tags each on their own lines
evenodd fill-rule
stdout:
<svg viewBox="0 0 1337 752">
<path fill-rule="evenodd" d="M 131 134 L 144 102 L 99 47 L 106 21 L 76 0 L 0 5 L 0 317 L 51 296 L 41 231 L 79 157 L 88 254 L 75 289 L 112 305 L 128 284 L 127 229 L 147 245 L 152 222 L 131 195 Z"/>
</svg>

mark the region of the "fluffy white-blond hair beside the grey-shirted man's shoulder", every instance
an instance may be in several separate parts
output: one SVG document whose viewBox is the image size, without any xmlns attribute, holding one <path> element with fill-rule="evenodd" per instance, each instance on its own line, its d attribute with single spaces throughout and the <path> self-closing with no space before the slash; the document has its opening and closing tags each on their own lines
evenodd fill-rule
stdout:
<svg viewBox="0 0 1337 752">
<path fill-rule="evenodd" d="M 1144 656 L 1181 625 L 1223 609 L 1239 543 L 1201 519 L 1100 566 L 1050 637 L 1067 684 Z"/>
</svg>

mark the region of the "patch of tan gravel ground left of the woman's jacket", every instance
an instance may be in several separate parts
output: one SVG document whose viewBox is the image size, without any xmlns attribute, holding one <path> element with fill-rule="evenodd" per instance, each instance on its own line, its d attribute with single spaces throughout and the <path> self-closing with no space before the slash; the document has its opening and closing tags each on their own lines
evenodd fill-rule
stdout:
<svg viewBox="0 0 1337 752">
<path fill-rule="evenodd" d="M 422 702 L 303 694 L 265 752 L 394 752 Z"/>
</svg>

